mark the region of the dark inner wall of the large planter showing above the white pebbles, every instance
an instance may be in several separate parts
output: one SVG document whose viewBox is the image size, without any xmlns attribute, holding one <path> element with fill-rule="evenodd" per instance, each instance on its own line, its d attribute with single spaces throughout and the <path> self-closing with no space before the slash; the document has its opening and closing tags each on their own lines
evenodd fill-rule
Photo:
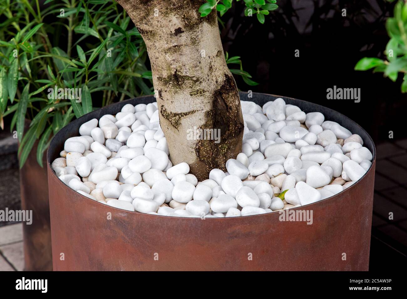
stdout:
<svg viewBox="0 0 407 299">
<path fill-rule="evenodd" d="M 365 131 L 365 129 L 363 129 L 359 124 L 357 124 L 357 122 L 351 120 L 350 118 L 343 115 L 342 113 L 339 113 L 339 112 L 337 112 L 337 111 L 335 111 L 333 109 L 330 109 L 328 107 L 324 107 L 322 105 L 318 105 L 318 104 L 315 104 L 315 103 L 311 103 L 311 102 L 307 102 L 307 101 L 299 100 L 299 99 L 295 99 L 295 98 L 289 98 L 289 97 L 286 97 L 286 96 L 277 96 L 277 95 L 273 95 L 273 94 L 262 94 L 262 93 L 255 93 L 255 92 L 252 93 L 252 97 L 249 97 L 248 92 L 239 92 L 239 96 L 240 96 L 241 100 L 249 100 L 249 101 L 252 101 L 252 102 L 254 102 L 254 103 L 256 103 L 256 104 L 258 104 L 260 106 L 263 106 L 265 103 L 267 103 L 267 102 L 269 102 L 271 100 L 275 100 L 276 98 L 282 98 L 285 101 L 286 104 L 297 105 L 305 113 L 315 112 L 315 111 L 321 112 L 322 114 L 324 114 L 325 120 L 331 120 L 331 121 L 337 122 L 341 126 L 345 127 L 349 131 L 351 131 L 352 134 L 360 135 L 362 137 L 362 139 L 363 139 L 363 146 L 367 147 L 373 153 L 372 165 L 365 172 L 363 177 L 361 177 L 358 181 L 353 183 L 352 186 L 350 186 L 350 187 L 346 188 L 345 190 L 335 194 L 334 196 L 330 196 L 330 197 L 328 197 L 326 199 L 322 199 L 320 201 L 317 201 L 315 203 L 310 203 L 308 205 L 302 205 L 301 207 L 305 207 L 305 206 L 308 207 L 310 205 L 315 205 L 315 204 L 318 204 L 318 203 L 320 203 L 322 201 L 332 199 L 332 197 L 335 197 L 336 195 L 341 194 L 342 192 L 345 192 L 349 188 L 354 187 L 357 184 L 357 182 L 362 180 L 368 174 L 368 172 L 370 172 L 372 170 L 372 166 L 374 165 L 374 162 L 376 160 L 376 147 L 374 145 L 372 137 L 370 137 L 370 135 Z M 57 157 L 60 157 L 59 153 L 63 150 L 63 144 L 64 144 L 65 140 L 68 139 L 69 137 L 79 136 L 79 127 L 84 122 L 87 122 L 87 121 L 89 121 L 89 120 L 91 120 L 93 118 L 99 119 L 105 114 L 113 114 L 113 115 L 115 115 L 116 113 L 120 112 L 122 107 L 124 105 L 126 105 L 126 104 L 137 105 L 137 104 L 149 104 L 149 103 L 153 103 L 153 102 L 155 102 L 155 96 L 153 96 L 153 95 L 151 95 L 151 96 L 140 96 L 140 97 L 137 97 L 137 98 L 132 98 L 132 99 L 128 99 L 128 100 L 118 102 L 118 103 L 110 104 L 108 106 L 105 106 L 105 107 L 102 107 L 102 108 L 97 109 L 95 111 L 92 111 L 90 113 L 87 113 L 87 114 L 81 116 L 80 118 L 70 122 L 68 125 L 63 127 L 55 136 L 53 136 L 53 138 L 52 138 L 52 140 L 50 142 L 50 146 L 48 147 L 48 150 L 47 150 L 48 167 L 50 169 L 52 169 L 51 168 L 51 157 L 53 157 L 52 161 L 54 159 L 56 159 Z M 55 172 L 52 172 L 52 175 L 55 175 Z M 90 198 L 88 198 L 86 196 L 83 196 L 83 199 L 94 201 L 93 199 L 90 199 Z M 111 207 L 111 208 L 114 208 L 114 207 Z M 126 210 L 122 210 L 122 209 L 118 209 L 118 208 L 114 208 L 114 209 L 117 209 L 120 212 L 126 211 Z M 139 212 L 136 212 L 136 211 L 135 212 L 126 211 L 126 212 L 144 214 L 144 213 L 139 213 Z M 268 214 L 272 214 L 272 213 L 268 213 Z M 144 215 L 149 215 L 149 214 L 144 214 Z M 259 215 L 263 215 L 263 214 L 259 214 Z M 243 217 L 256 217 L 256 216 L 259 216 L 259 215 L 251 215 L 251 216 L 243 216 Z M 162 215 L 150 215 L 150 216 L 157 217 L 157 216 L 162 216 Z M 166 217 L 166 216 L 162 216 L 162 217 Z M 166 218 L 185 218 L 185 217 L 166 217 Z M 234 218 L 234 217 L 231 217 L 231 218 Z M 190 219 L 194 219 L 194 218 L 190 218 Z M 213 218 L 213 219 L 216 219 L 216 218 Z M 225 219 L 225 218 L 219 218 L 219 219 Z"/>
</svg>

